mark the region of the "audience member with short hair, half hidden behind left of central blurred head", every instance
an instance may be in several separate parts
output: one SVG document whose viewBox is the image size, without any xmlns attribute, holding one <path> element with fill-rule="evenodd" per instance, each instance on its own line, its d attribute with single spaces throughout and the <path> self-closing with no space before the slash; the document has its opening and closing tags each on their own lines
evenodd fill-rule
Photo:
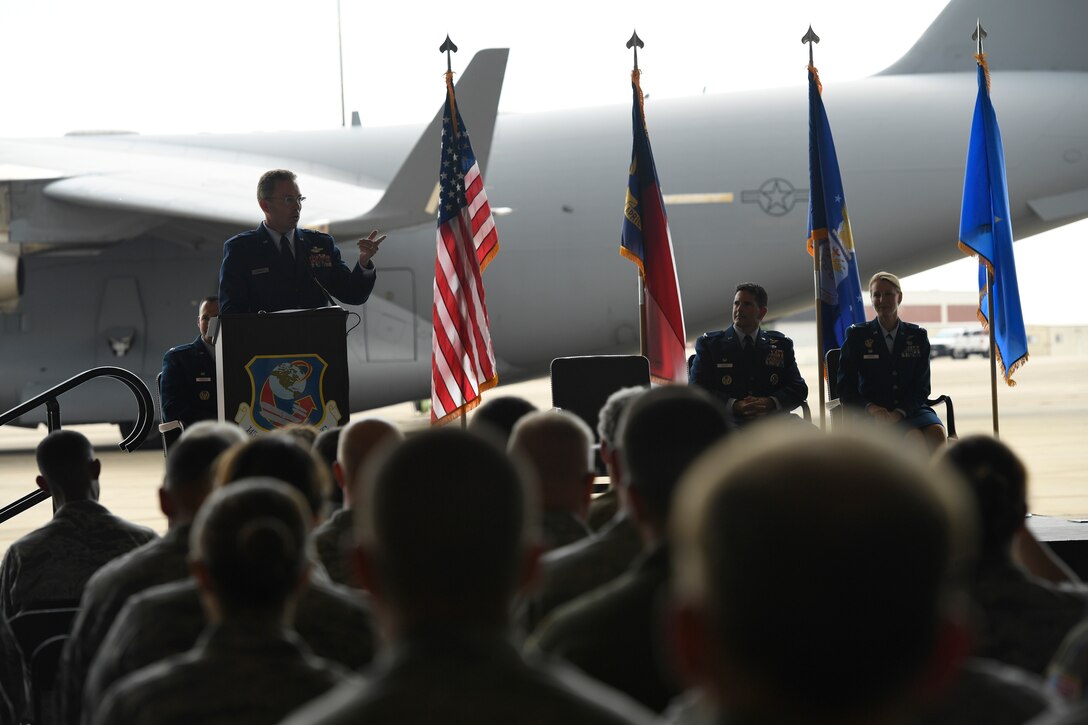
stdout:
<svg viewBox="0 0 1088 725">
<path fill-rule="evenodd" d="M 318 558 L 329 572 L 333 581 L 345 587 L 358 587 L 347 552 L 351 541 L 351 509 L 355 506 L 355 481 L 363 463 L 380 444 L 396 444 L 404 434 L 396 426 L 383 418 L 353 420 L 341 429 L 336 445 L 336 460 L 333 476 L 343 492 L 344 506 L 334 512 L 318 528 L 313 529 L 313 545 Z"/>
</svg>

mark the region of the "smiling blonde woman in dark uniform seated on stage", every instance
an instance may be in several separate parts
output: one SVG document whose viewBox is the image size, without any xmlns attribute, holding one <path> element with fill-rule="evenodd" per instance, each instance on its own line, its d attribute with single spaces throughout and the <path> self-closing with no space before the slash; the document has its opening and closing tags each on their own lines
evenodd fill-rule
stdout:
<svg viewBox="0 0 1088 725">
<path fill-rule="evenodd" d="M 839 360 L 839 398 L 866 420 L 899 425 L 930 448 L 944 443 L 944 427 L 929 397 L 929 336 L 899 319 L 899 278 L 877 272 L 869 280 L 876 319 L 846 331 Z"/>
</svg>

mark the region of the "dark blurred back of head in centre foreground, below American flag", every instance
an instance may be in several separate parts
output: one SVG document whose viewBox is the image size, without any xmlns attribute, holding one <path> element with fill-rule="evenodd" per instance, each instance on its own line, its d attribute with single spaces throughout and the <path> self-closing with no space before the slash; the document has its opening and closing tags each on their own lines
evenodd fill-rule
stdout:
<svg viewBox="0 0 1088 725">
<path fill-rule="evenodd" d="M 490 440 L 454 428 L 370 462 L 356 534 L 390 601 L 469 612 L 507 600 L 541 536 L 527 476 Z"/>
</svg>

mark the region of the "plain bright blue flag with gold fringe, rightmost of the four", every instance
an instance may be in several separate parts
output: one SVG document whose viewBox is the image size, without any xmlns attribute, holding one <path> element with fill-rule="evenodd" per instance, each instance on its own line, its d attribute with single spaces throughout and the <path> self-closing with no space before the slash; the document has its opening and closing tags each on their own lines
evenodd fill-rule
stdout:
<svg viewBox="0 0 1088 725">
<path fill-rule="evenodd" d="M 1013 372 L 1027 361 L 1027 331 L 1016 284 L 1001 130 L 990 102 L 990 74 L 986 58 L 975 58 L 978 61 L 978 97 L 970 124 L 970 140 L 967 143 L 959 246 L 964 254 L 978 257 L 978 319 L 984 329 L 993 325 L 998 364 L 1005 382 L 1014 385 Z M 993 272 L 992 320 L 988 311 L 988 270 Z"/>
</svg>

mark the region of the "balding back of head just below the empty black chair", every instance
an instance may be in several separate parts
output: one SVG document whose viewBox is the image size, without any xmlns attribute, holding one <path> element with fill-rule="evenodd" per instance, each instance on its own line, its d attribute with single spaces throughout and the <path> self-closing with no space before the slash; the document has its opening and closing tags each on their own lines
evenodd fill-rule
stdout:
<svg viewBox="0 0 1088 725">
<path fill-rule="evenodd" d="M 573 481 L 593 470 L 593 431 L 572 413 L 530 413 L 515 423 L 509 446 L 544 481 Z"/>
</svg>

